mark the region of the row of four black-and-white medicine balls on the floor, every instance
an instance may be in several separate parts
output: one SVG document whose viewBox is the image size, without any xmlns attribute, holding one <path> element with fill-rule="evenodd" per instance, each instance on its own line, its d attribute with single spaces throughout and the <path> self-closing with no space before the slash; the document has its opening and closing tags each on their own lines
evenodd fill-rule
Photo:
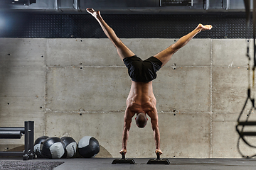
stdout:
<svg viewBox="0 0 256 170">
<path fill-rule="evenodd" d="M 85 158 L 95 157 L 100 152 L 95 137 L 85 136 L 77 143 L 72 137 L 38 137 L 34 144 L 34 153 L 38 158 L 72 158 L 77 153 Z"/>
</svg>

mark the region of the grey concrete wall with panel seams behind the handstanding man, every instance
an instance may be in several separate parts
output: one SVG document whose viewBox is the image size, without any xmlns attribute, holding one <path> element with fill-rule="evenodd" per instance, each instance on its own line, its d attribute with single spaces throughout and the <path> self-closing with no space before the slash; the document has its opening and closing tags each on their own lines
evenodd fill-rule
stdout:
<svg viewBox="0 0 256 170">
<path fill-rule="evenodd" d="M 175 41 L 123 39 L 142 59 Z M 154 94 L 163 157 L 241 157 L 235 125 L 247 97 L 246 47 L 243 39 L 193 39 L 160 69 Z M 100 157 L 120 157 L 131 80 L 110 40 L 0 38 L 0 48 L 1 126 L 34 120 L 35 138 L 91 135 Z M 1 150 L 19 145 L 23 139 L 0 140 Z M 127 157 L 155 157 L 151 125 L 132 122 L 127 150 Z"/>
</svg>

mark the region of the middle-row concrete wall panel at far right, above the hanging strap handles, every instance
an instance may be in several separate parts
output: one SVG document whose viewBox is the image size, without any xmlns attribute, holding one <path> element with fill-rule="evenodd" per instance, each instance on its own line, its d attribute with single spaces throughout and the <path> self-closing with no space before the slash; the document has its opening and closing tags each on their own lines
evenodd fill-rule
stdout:
<svg viewBox="0 0 256 170">
<path fill-rule="evenodd" d="M 240 113 L 247 98 L 248 72 L 244 67 L 213 68 L 213 113 Z"/>
</svg>

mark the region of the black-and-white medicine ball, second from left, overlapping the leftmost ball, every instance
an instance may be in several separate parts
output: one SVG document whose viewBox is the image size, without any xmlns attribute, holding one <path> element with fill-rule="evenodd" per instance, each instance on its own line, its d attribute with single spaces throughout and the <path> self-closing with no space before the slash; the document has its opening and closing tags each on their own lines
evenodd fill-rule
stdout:
<svg viewBox="0 0 256 170">
<path fill-rule="evenodd" d="M 43 155 L 50 159 L 59 159 L 65 154 L 65 146 L 58 137 L 48 137 L 42 145 Z"/>
</svg>

